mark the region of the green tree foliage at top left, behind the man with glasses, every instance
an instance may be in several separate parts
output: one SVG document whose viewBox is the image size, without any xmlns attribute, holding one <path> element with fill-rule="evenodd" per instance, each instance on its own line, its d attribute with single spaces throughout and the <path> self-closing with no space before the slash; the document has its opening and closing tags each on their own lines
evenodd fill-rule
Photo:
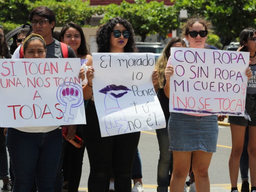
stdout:
<svg viewBox="0 0 256 192">
<path fill-rule="evenodd" d="M 0 23 L 8 32 L 27 23 L 29 12 L 39 6 L 48 6 L 54 11 L 58 27 L 69 21 L 90 21 L 92 15 L 105 12 L 104 7 L 89 4 L 89 0 L 0 0 Z"/>
</svg>

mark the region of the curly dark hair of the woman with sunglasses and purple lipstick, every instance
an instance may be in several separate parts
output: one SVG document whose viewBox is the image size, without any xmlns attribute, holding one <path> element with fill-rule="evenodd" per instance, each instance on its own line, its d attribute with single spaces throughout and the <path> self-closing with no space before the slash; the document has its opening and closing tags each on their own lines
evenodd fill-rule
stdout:
<svg viewBox="0 0 256 192">
<path fill-rule="evenodd" d="M 124 27 L 131 31 L 131 35 L 128 39 L 127 44 L 124 47 L 124 52 L 137 52 L 137 48 L 135 45 L 134 40 L 134 30 L 132 28 L 132 24 L 121 17 L 115 17 L 113 19 L 108 20 L 107 23 L 104 25 L 101 25 L 100 28 L 97 30 L 96 33 L 96 43 L 98 44 L 98 52 L 109 52 L 110 48 L 110 35 L 113 28 L 116 26 L 116 24 L 122 24 Z"/>
</svg>

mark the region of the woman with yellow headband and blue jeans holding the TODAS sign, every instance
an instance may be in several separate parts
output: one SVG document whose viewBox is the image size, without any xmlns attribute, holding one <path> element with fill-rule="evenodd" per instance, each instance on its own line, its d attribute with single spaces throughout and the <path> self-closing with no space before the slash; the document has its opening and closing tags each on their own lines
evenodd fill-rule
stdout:
<svg viewBox="0 0 256 192">
<path fill-rule="evenodd" d="M 25 38 L 23 54 L 26 59 L 45 58 L 46 45 L 43 37 L 31 34 Z M 79 77 L 84 79 L 84 70 L 81 73 Z M 30 191 L 35 178 L 38 192 L 54 191 L 62 140 L 60 126 L 7 129 L 6 145 L 15 177 L 13 192 Z"/>
</svg>

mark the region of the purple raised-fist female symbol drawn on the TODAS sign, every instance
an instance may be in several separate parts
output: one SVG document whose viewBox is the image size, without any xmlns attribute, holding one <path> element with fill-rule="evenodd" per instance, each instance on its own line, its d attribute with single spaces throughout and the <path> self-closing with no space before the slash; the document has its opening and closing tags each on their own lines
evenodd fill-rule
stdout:
<svg viewBox="0 0 256 192">
<path fill-rule="evenodd" d="M 65 111 L 60 114 L 63 120 L 68 122 L 69 119 L 74 119 L 72 108 L 79 107 L 83 103 L 82 88 L 78 84 L 65 82 L 59 86 L 57 90 L 57 99 L 61 105 L 65 106 Z"/>
</svg>

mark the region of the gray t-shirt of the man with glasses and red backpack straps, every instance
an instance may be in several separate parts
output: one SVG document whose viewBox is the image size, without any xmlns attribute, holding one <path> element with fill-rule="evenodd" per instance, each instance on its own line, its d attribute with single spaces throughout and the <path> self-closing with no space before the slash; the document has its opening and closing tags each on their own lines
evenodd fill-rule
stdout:
<svg viewBox="0 0 256 192">
<path fill-rule="evenodd" d="M 21 45 L 15 50 L 12 59 L 20 58 L 20 47 Z M 60 42 L 56 39 L 51 44 L 46 45 L 46 58 L 62 58 Z M 76 53 L 70 46 L 68 46 L 68 58 L 76 58 Z"/>
</svg>

